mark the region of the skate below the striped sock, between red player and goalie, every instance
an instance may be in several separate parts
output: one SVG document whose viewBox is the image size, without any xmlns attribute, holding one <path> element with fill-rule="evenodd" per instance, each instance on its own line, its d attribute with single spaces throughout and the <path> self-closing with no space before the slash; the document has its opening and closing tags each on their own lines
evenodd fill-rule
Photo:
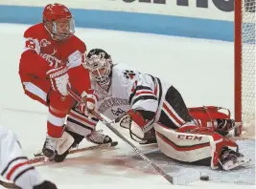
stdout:
<svg viewBox="0 0 256 189">
<path fill-rule="evenodd" d="M 110 136 L 103 134 L 103 130 L 92 131 L 89 136 L 86 136 L 86 139 L 94 144 L 110 144 L 110 146 L 116 146 L 117 141 L 113 141 Z"/>
</svg>

